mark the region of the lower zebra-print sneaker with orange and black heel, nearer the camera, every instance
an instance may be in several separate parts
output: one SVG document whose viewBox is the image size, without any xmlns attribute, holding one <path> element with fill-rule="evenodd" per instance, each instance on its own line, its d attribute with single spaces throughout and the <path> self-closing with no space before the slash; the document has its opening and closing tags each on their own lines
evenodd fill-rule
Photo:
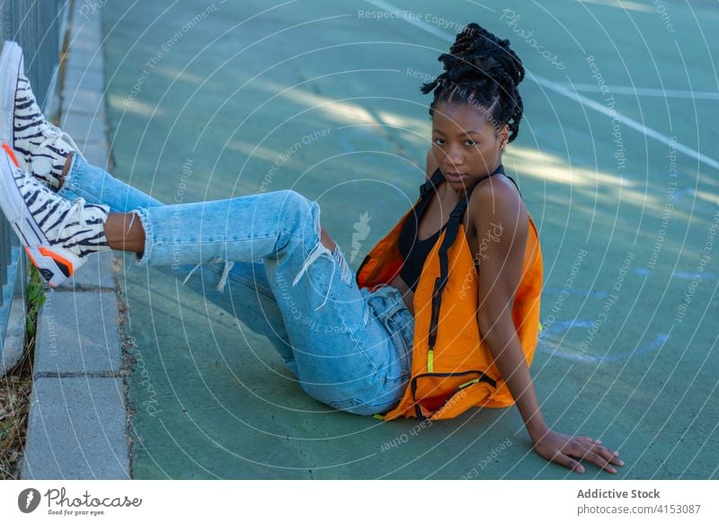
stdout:
<svg viewBox="0 0 719 524">
<path fill-rule="evenodd" d="M 110 208 L 63 199 L 22 170 L 13 149 L 0 154 L 0 209 L 51 287 L 67 280 L 91 253 L 110 250 Z"/>
</svg>

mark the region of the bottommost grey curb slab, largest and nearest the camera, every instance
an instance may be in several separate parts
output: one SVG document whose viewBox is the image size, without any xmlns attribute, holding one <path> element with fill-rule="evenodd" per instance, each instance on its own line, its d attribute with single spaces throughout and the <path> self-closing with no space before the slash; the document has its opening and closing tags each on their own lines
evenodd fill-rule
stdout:
<svg viewBox="0 0 719 524">
<path fill-rule="evenodd" d="M 22 479 L 129 478 L 126 424 L 120 378 L 37 378 Z"/>
</svg>

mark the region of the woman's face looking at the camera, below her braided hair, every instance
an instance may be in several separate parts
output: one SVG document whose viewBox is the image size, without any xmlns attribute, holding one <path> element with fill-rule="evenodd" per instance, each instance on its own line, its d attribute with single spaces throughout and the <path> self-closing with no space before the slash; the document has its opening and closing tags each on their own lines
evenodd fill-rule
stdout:
<svg viewBox="0 0 719 524">
<path fill-rule="evenodd" d="M 432 147 L 439 169 L 455 190 L 464 192 L 502 162 L 509 127 L 496 129 L 488 111 L 472 103 L 440 103 L 432 116 Z"/>
</svg>

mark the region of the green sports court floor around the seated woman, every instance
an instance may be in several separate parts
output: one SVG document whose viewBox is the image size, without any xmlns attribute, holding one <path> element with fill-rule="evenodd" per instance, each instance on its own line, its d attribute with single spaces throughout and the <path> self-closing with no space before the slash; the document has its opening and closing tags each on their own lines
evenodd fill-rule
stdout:
<svg viewBox="0 0 719 524">
<path fill-rule="evenodd" d="M 509 38 L 528 75 L 504 165 L 545 262 L 537 394 L 552 427 L 626 462 L 617 476 L 546 462 L 516 408 L 422 428 L 333 412 L 267 339 L 127 257 L 135 478 L 717 477 L 715 2 L 102 10 L 113 173 L 166 202 L 299 191 L 355 270 L 417 197 L 430 138 L 419 86 L 439 53 L 466 22 Z"/>
</svg>

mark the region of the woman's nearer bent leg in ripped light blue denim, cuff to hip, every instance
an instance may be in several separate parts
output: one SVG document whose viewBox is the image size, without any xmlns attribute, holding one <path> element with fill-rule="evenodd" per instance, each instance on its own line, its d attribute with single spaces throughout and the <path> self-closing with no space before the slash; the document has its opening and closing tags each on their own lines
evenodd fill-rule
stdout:
<svg viewBox="0 0 719 524">
<path fill-rule="evenodd" d="M 321 242 L 316 202 L 272 191 L 133 212 L 146 237 L 139 264 L 225 261 L 222 287 L 235 264 L 264 262 L 309 395 L 360 414 L 382 413 L 399 401 L 407 360 L 372 315 L 339 245 L 330 251 Z M 173 222 L 182 224 L 181 235 Z"/>
</svg>

